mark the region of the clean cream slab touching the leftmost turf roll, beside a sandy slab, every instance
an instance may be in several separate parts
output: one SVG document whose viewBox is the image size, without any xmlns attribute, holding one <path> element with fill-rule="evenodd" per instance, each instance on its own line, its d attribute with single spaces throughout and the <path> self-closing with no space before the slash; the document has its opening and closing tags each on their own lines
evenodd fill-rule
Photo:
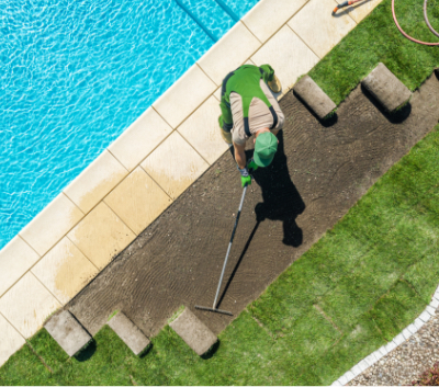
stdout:
<svg viewBox="0 0 439 387">
<path fill-rule="evenodd" d="M 27 272 L 0 298 L 0 314 L 25 339 L 35 334 L 61 304 Z"/>
</svg>

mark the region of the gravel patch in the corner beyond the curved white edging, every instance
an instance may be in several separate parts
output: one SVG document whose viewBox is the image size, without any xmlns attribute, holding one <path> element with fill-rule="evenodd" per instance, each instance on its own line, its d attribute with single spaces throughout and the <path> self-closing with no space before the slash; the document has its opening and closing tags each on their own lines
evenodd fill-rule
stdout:
<svg viewBox="0 0 439 387">
<path fill-rule="evenodd" d="M 357 376 L 348 386 L 412 385 L 439 361 L 439 309 L 426 325 L 381 361 Z"/>
</svg>

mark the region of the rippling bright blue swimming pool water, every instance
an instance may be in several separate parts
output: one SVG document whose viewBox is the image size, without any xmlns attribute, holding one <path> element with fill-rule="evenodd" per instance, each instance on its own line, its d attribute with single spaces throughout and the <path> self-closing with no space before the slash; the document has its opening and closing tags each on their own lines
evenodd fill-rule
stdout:
<svg viewBox="0 0 439 387">
<path fill-rule="evenodd" d="M 235 24 L 181 1 L 217 38 Z M 0 0 L 0 248 L 213 44 L 175 0 Z"/>
</svg>

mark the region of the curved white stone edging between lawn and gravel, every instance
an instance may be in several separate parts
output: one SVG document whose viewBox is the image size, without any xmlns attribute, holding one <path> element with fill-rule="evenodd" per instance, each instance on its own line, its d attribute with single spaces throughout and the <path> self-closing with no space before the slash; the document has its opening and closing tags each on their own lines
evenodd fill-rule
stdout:
<svg viewBox="0 0 439 387">
<path fill-rule="evenodd" d="M 435 311 L 439 310 L 439 286 L 436 288 L 436 293 L 431 297 L 431 301 L 425 310 L 419 315 L 417 319 L 408 327 L 406 327 L 399 334 L 397 334 L 391 342 L 381 346 L 376 351 L 372 352 L 369 356 L 365 356 L 362 361 L 358 362 L 352 368 L 341 375 L 331 386 L 345 386 L 357 376 L 362 374 L 373 364 L 379 362 L 382 357 L 387 355 L 394 349 L 403 344 L 412 335 L 414 335 L 423 326 L 435 316 Z"/>
</svg>

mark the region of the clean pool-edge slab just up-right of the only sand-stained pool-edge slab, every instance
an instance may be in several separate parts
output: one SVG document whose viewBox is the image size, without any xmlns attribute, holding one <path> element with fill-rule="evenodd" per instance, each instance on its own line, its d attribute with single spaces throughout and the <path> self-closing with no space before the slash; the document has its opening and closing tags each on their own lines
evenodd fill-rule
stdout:
<svg viewBox="0 0 439 387">
<path fill-rule="evenodd" d="M 135 169 L 172 128 L 160 115 L 148 107 L 130 127 L 110 145 L 109 151 L 128 170 Z"/>
</svg>

